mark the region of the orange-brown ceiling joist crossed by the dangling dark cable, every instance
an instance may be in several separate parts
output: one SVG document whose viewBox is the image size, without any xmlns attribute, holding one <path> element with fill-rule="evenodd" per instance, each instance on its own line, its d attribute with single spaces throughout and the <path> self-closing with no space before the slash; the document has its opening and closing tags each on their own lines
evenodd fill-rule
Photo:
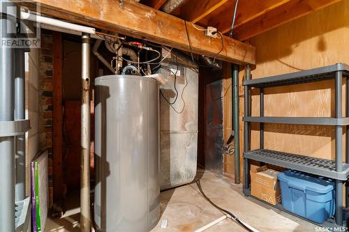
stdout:
<svg viewBox="0 0 349 232">
<path fill-rule="evenodd" d="M 263 1 L 239 1 L 237 5 L 237 16 L 235 18 L 234 28 L 236 29 L 246 22 L 250 22 L 260 15 L 264 15 L 269 10 L 273 10 L 290 0 L 263 0 Z M 223 7 L 224 10 L 218 10 L 209 25 L 216 27 L 222 33 L 230 31 L 232 16 L 235 10 L 235 1 L 228 1 Z"/>
</svg>

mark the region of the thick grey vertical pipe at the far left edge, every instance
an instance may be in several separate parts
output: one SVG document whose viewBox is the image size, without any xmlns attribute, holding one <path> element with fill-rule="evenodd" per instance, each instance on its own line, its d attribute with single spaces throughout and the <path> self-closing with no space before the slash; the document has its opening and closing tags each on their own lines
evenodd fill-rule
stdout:
<svg viewBox="0 0 349 232">
<path fill-rule="evenodd" d="M 3 3 L 3 0 L 0 0 Z M 5 12 L 9 13 L 9 12 Z M 0 18 L 0 40 L 8 38 L 10 17 Z M 14 49 L 0 45 L 0 121 L 14 121 Z M 15 137 L 0 137 L 0 231 L 15 231 Z"/>
</svg>

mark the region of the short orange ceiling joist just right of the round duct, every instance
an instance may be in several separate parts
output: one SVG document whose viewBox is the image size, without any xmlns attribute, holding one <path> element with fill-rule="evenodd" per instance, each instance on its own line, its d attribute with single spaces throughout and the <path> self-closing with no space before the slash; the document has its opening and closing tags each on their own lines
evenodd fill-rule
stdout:
<svg viewBox="0 0 349 232">
<path fill-rule="evenodd" d="M 228 0 L 189 1 L 181 8 L 181 16 L 185 20 L 195 23 L 226 2 Z"/>
</svg>

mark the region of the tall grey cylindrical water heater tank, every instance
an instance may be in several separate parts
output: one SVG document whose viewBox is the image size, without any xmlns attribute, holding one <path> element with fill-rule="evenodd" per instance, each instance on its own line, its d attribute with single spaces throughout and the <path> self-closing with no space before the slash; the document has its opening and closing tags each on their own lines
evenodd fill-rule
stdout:
<svg viewBox="0 0 349 232">
<path fill-rule="evenodd" d="M 98 231 L 150 231 L 160 216 L 158 84 L 95 80 L 94 219 Z"/>
</svg>

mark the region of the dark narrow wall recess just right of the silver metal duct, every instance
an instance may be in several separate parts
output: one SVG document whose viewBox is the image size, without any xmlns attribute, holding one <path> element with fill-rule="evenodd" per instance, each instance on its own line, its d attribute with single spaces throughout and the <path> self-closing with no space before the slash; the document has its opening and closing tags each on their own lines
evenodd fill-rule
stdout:
<svg viewBox="0 0 349 232">
<path fill-rule="evenodd" d="M 223 173 L 223 70 L 199 69 L 198 165 Z"/>
</svg>

